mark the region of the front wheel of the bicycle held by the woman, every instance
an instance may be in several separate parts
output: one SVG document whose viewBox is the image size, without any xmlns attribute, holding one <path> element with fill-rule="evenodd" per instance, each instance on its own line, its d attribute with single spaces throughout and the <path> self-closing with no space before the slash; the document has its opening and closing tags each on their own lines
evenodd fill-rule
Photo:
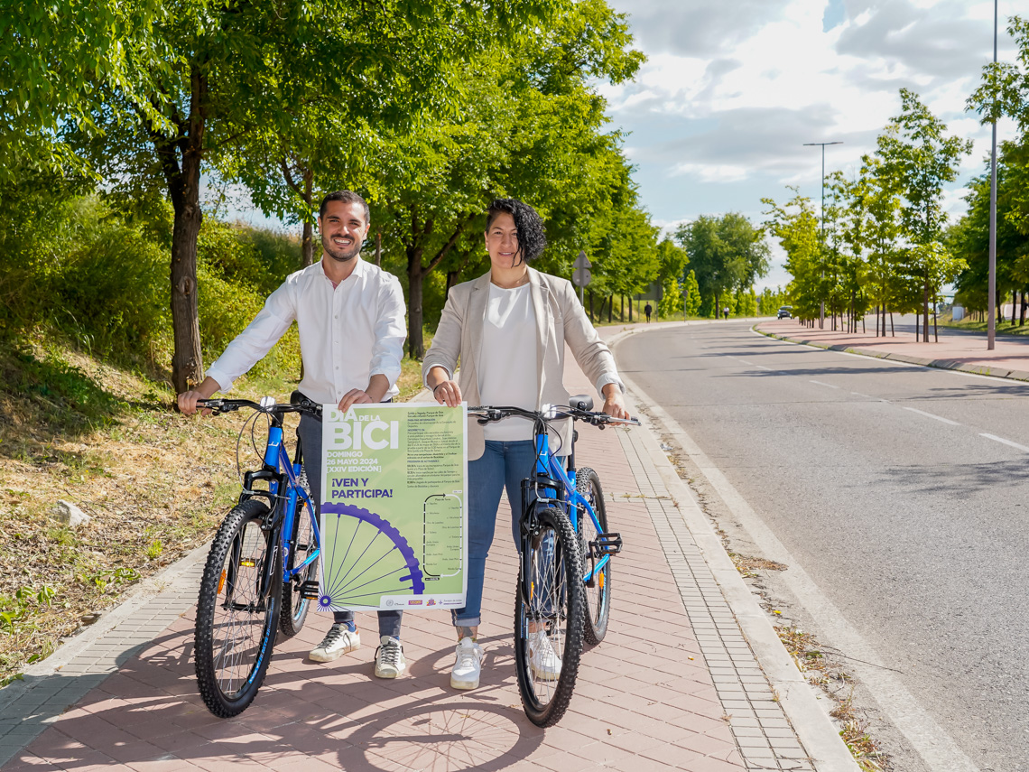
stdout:
<svg viewBox="0 0 1029 772">
<path fill-rule="evenodd" d="M 537 727 L 564 715 L 582 653 L 582 569 L 568 518 L 549 507 L 522 538 L 514 602 L 514 666 L 522 705 Z"/>
</svg>

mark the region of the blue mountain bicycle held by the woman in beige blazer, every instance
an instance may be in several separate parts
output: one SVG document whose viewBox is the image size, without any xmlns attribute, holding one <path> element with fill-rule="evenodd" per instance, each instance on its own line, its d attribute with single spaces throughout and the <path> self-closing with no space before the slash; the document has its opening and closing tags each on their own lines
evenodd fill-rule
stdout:
<svg viewBox="0 0 1029 772">
<path fill-rule="evenodd" d="M 482 424 L 521 416 L 533 421 L 535 468 L 522 481 L 519 581 L 514 599 L 514 663 L 526 715 L 539 727 L 557 724 L 571 701 L 583 639 L 599 643 L 611 610 L 611 558 L 622 536 L 607 530 L 597 472 L 575 468 L 575 440 L 552 452 L 547 424 L 573 418 L 603 428 L 639 425 L 635 419 L 593 412 L 593 399 L 574 396 L 546 411 L 469 408 Z M 558 449 L 560 450 L 560 449 Z"/>
</svg>

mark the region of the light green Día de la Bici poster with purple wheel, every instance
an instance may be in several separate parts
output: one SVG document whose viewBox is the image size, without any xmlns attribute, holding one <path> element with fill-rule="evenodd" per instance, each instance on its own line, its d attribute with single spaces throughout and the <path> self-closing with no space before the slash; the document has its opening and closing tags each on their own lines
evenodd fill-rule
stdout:
<svg viewBox="0 0 1029 772">
<path fill-rule="evenodd" d="M 323 407 L 318 608 L 460 608 L 466 407 Z"/>
</svg>

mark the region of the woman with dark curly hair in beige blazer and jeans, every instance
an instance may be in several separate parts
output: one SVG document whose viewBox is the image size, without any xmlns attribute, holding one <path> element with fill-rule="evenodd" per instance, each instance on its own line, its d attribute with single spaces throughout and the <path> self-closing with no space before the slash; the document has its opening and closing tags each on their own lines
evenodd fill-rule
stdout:
<svg viewBox="0 0 1029 772">
<path fill-rule="evenodd" d="M 436 401 L 455 407 L 465 399 L 470 405 L 527 410 L 567 405 L 568 392 L 562 384 L 567 343 L 604 395 L 603 411 L 628 418 L 614 358 L 587 318 L 571 283 L 529 268 L 529 261 L 546 246 L 536 211 L 517 199 L 498 199 L 490 206 L 485 237 L 490 272 L 451 289 L 422 363 L 425 385 Z M 458 359 L 461 372 L 455 381 Z M 486 449 L 468 462 L 468 592 L 465 607 L 454 612 L 458 645 L 451 686 L 455 689 L 478 686 L 483 648 L 476 636 L 486 557 L 505 484 L 512 502 L 511 533 L 518 543 L 520 485 L 536 458 L 532 429 L 532 422 L 522 418 L 483 427 Z M 560 447 L 570 448 L 570 425 L 558 433 Z M 545 633 L 540 631 L 530 639 L 530 651 L 536 676 L 556 678 L 561 661 Z"/>
</svg>

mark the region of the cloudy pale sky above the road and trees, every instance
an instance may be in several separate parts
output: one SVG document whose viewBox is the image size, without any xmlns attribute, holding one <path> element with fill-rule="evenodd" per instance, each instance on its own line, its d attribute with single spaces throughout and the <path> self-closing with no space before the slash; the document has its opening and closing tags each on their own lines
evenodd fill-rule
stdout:
<svg viewBox="0 0 1029 772">
<path fill-rule="evenodd" d="M 787 185 L 817 204 L 825 171 L 853 176 L 860 157 L 916 92 L 948 126 L 974 141 L 947 190 L 952 216 L 982 173 L 990 128 L 966 112 L 993 58 L 993 0 L 608 0 L 628 17 L 647 57 L 634 82 L 599 87 L 613 127 L 628 133 L 643 206 L 666 232 L 699 215 L 741 212 L 760 222 L 764 197 Z M 1005 21 L 1029 0 L 999 0 L 999 59 L 1015 61 Z M 1009 124 L 998 127 L 1012 138 Z M 776 245 L 764 286 L 785 286 Z"/>
</svg>

